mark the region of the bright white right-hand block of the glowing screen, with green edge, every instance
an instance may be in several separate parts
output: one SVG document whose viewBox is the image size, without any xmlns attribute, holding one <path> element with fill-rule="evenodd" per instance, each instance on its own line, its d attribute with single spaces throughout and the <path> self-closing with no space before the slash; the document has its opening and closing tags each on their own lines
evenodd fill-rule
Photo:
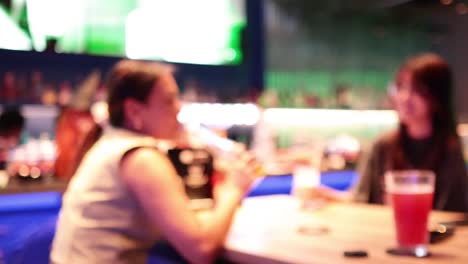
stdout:
<svg viewBox="0 0 468 264">
<path fill-rule="evenodd" d="M 239 63 L 245 21 L 234 11 L 229 1 L 142 1 L 127 17 L 126 55 L 198 64 Z"/>
</svg>

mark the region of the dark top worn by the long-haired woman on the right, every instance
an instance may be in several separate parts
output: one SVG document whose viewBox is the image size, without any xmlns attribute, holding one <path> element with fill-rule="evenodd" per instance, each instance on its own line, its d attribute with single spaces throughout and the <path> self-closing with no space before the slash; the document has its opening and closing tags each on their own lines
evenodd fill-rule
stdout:
<svg viewBox="0 0 468 264">
<path fill-rule="evenodd" d="M 380 137 L 364 155 L 359 164 L 360 179 L 355 186 L 355 199 L 360 202 L 382 204 L 384 202 L 384 174 L 390 159 L 389 135 Z M 430 139 L 410 140 L 404 146 L 409 163 L 418 169 L 432 146 Z M 419 167 L 420 168 L 420 167 Z M 447 148 L 435 169 L 436 183 L 433 209 L 468 212 L 468 174 L 463 159 L 462 147 Z"/>
</svg>

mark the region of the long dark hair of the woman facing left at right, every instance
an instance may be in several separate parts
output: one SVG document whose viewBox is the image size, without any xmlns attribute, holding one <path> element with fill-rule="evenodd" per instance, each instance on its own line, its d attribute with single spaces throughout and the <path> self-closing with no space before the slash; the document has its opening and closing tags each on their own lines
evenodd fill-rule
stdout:
<svg viewBox="0 0 468 264">
<path fill-rule="evenodd" d="M 433 53 L 410 57 L 400 67 L 399 73 L 403 71 L 412 74 L 412 86 L 417 93 L 426 98 L 430 105 L 433 147 L 420 166 L 423 169 L 435 169 L 446 149 L 459 143 L 453 107 L 452 71 L 443 58 Z M 394 138 L 396 144 L 392 150 L 393 169 L 410 167 L 404 151 L 404 146 L 409 140 L 406 125 L 400 123 L 399 131 Z"/>
</svg>

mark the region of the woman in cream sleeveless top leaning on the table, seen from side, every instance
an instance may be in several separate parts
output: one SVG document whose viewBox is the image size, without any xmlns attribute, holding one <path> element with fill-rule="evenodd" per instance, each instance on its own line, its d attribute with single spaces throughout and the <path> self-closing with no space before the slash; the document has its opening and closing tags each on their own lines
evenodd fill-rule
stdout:
<svg viewBox="0 0 468 264">
<path fill-rule="evenodd" d="M 200 221 L 158 139 L 179 133 L 178 87 L 168 66 L 124 60 L 107 82 L 110 127 L 84 156 L 64 195 L 52 263 L 146 263 L 167 240 L 188 262 L 210 263 L 248 191 L 253 164 L 214 187 Z M 248 156 L 248 154 L 245 154 Z"/>
</svg>

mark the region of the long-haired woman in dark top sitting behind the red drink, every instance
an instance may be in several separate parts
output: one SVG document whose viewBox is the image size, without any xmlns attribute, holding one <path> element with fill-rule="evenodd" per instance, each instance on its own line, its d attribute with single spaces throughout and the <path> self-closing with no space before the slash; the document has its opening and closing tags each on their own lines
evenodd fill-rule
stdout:
<svg viewBox="0 0 468 264">
<path fill-rule="evenodd" d="M 389 92 L 399 126 L 372 146 L 360 166 L 354 198 L 383 203 L 386 171 L 424 169 L 436 174 L 434 209 L 468 212 L 468 176 L 456 133 L 449 65 L 432 53 L 411 57 Z"/>
</svg>

